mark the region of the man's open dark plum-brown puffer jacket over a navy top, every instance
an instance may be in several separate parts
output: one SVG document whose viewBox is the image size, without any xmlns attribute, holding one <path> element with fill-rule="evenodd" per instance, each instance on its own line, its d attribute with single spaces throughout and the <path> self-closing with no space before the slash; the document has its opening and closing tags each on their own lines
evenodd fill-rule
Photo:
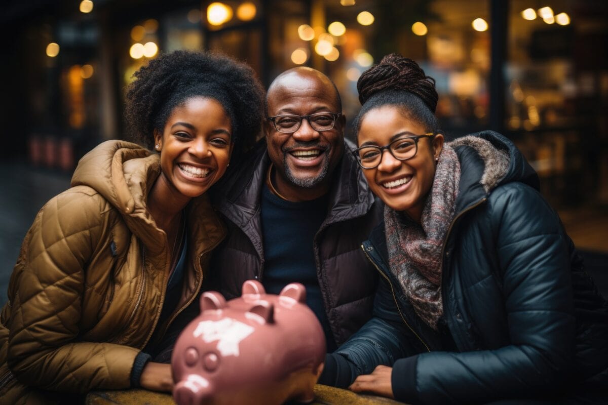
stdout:
<svg viewBox="0 0 608 405">
<path fill-rule="evenodd" d="M 330 206 L 311 246 L 317 263 L 317 279 L 336 344 L 344 343 L 371 318 L 378 272 L 359 246 L 382 218 L 359 166 L 345 153 L 336 168 L 330 190 Z M 246 163 L 222 180 L 213 202 L 228 225 L 228 236 L 214 251 L 206 288 L 220 291 L 226 299 L 241 295 L 243 282 L 263 280 L 260 196 L 270 159 L 266 141 L 260 141 Z M 297 232 L 297 229 L 294 229 Z"/>
</svg>

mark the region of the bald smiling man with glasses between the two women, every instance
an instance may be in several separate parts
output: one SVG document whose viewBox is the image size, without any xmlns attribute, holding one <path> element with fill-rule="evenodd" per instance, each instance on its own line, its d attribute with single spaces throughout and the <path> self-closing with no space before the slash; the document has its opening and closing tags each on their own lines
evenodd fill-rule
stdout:
<svg viewBox="0 0 608 405">
<path fill-rule="evenodd" d="M 378 271 L 361 242 L 382 211 L 348 153 L 330 78 L 308 67 L 282 73 L 266 112 L 265 141 L 215 192 L 229 232 L 207 288 L 230 299 L 248 279 L 273 294 L 301 282 L 333 352 L 371 316 Z"/>
</svg>

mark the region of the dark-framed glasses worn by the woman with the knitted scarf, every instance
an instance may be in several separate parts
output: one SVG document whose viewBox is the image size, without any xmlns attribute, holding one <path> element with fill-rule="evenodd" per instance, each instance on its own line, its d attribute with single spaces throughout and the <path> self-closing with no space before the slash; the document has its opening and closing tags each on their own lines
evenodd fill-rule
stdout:
<svg viewBox="0 0 608 405">
<path fill-rule="evenodd" d="M 352 154 L 356 158 L 359 166 L 364 169 L 377 168 L 382 162 L 382 152 L 389 151 L 397 160 L 407 160 L 413 158 L 418 152 L 418 140 L 424 137 L 432 137 L 439 132 L 429 132 L 423 135 L 408 135 L 396 138 L 386 146 L 366 145 L 355 149 Z"/>
</svg>

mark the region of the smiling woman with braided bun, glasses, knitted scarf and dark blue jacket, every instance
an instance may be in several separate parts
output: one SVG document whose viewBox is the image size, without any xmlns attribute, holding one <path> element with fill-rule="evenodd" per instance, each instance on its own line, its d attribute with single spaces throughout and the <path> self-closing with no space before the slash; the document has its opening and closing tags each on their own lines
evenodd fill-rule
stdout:
<svg viewBox="0 0 608 405">
<path fill-rule="evenodd" d="M 411 404 L 605 401 L 608 306 L 517 148 L 444 142 L 435 81 L 400 55 L 357 87 L 353 154 L 385 203 L 362 249 L 382 282 L 320 382 Z"/>
</svg>

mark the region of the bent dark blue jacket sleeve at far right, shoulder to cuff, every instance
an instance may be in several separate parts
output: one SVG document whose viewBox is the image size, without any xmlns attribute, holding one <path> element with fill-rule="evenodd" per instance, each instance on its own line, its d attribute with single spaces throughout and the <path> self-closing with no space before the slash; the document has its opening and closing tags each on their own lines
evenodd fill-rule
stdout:
<svg viewBox="0 0 608 405">
<path fill-rule="evenodd" d="M 511 183 L 494 191 L 482 216 L 496 242 L 510 344 L 398 360 L 392 376 L 398 400 L 476 403 L 534 395 L 558 389 L 570 371 L 575 318 L 567 241 L 557 215 L 534 189 Z"/>
</svg>

